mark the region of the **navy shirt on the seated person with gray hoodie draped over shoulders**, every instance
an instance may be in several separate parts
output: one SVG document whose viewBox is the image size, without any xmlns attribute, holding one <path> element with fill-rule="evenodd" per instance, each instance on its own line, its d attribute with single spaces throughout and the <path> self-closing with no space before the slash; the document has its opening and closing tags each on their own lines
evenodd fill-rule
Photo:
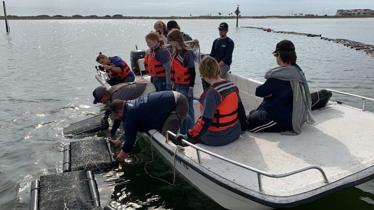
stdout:
<svg viewBox="0 0 374 210">
<path fill-rule="evenodd" d="M 256 88 L 256 96 L 264 97 L 261 110 L 271 120 L 283 127 L 292 129 L 292 107 L 294 94 L 289 81 L 270 78 Z"/>
</svg>

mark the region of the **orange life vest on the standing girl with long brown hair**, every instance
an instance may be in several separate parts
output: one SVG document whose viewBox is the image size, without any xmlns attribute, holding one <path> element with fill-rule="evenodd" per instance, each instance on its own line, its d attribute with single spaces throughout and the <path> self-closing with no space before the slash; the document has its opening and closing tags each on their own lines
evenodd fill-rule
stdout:
<svg viewBox="0 0 374 210">
<path fill-rule="evenodd" d="M 170 77 L 174 83 L 190 84 L 191 72 L 188 67 L 184 67 L 184 57 L 188 51 L 182 49 L 178 55 L 175 53 L 174 58 L 171 60 Z"/>
</svg>

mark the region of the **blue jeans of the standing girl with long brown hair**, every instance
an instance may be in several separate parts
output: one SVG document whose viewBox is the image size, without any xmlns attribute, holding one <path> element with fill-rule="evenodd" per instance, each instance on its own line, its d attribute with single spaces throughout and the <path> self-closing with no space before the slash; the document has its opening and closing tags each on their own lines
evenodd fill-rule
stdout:
<svg viewBox="0 0 374 210">
<path fill-rule="evenodd" d="M 182 93 L 187 98 L 188 90 L 190 89 L 190 85 L 188 84 L 178 84 L 174 83 L 175 91 Z M 195 124 L 195 112 L 193 110 L 193 99 L 188 100 L 188 114 L 182 123 L 181 134 L 186 134 L 189 129 L 191 129 Z"/>
</svg>

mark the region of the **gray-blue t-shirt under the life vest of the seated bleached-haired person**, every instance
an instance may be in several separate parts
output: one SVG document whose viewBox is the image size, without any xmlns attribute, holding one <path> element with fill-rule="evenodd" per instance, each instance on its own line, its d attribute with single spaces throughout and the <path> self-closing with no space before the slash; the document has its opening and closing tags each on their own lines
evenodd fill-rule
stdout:
<svg viewBox="0 0 374 210">
<path fill-rule="evenodd" d="M 238 103 L 242 101 L 240 96 L 238 96 Z M 218 105 L 221 104 L 221 97 L 217 93 L 217 91 L 213 89 L 209 89 L 206 91 L 204 99 L 203 99 L 203 110 L 201 113 L 202 117 L 206 117 L 209 119 L 213 119 L 215 109 Z M 233 127 L 229 127 L 225 130 L 221 131 L 209 131 L 207 130 L 203 136 L 200 138 L 202 142 L 207 145 L 224 145 L 233 142 L 240 136 L 241 128 L 240 128 L 240 121 L 238 120 L 237 123 Z"/>
</svg>

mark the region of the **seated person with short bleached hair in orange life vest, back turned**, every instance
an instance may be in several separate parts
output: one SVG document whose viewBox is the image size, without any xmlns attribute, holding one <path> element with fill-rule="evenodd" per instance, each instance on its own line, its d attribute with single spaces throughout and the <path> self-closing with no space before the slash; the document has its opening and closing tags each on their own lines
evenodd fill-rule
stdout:
<svg viewBox="0 0 374 210">
<path fill-rule="evenodd" d="M 247 126 L 239 89 L 232 81 L 220 77 L 220 66 L 211 56 L 202 59 L 199 72 L 211 87 L 200 95 L 201 115 L 197 123 L 186 135 L 177 134 L 176 144 L 184 146 L 181 139 L 212 146 L 231 143 L 241 131 L 245 132 Z"/>
</svg>

